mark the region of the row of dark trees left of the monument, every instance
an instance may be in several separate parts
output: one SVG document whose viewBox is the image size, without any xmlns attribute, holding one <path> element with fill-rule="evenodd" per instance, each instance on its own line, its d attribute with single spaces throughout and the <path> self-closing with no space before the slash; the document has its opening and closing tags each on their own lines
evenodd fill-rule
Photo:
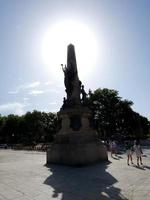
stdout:
<svg viewBox="0 0 150 200">
<path fill-rule="evenodd" d="M 57 116 L 40 111 L 27 112 L 23 116 L 0 117 L 0 142 L 36 144 L 53 141 Z"/>
</svg>

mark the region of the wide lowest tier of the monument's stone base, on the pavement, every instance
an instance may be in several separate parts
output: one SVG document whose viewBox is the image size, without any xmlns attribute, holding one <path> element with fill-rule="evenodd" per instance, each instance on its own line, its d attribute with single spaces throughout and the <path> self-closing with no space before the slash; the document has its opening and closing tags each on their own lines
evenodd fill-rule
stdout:
<svg viewBox="0 0 150 200">
<path fill-rule="evenodd" d="M 98 142 L 93 135 L 85 137 L 68 134 L 58 136 L 55 141 L 47 151 L 47 164 L 82 166 L 108 160 L 105 145 Z"/>
</svg>

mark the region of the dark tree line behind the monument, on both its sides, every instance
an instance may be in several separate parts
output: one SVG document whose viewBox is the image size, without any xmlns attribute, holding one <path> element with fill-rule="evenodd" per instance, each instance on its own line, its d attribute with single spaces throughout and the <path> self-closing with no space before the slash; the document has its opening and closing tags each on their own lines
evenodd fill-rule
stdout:
<svg viewBox="0 0 150 200">
<path fill-rule="evenodd" d="M 116 90 L 89 91 L 91 122 L 101 138 L 144 138 L 150 132 L 146 117 L 132 110 L 133 102 L 123 100 Z M 55 113 L 34 110 L 25 115 L 0 115 L 0 143 L 25 145 L 52 142 L 59 122 Z"/>
</svg>

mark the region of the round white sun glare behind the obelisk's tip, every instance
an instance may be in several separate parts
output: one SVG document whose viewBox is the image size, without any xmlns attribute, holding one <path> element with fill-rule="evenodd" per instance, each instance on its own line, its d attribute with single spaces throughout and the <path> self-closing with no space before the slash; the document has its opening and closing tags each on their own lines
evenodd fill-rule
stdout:
<svg viewBox="0 0 150 200">
<path fill-rule="evenodd" d="M 42 57 L 54 76 L 62 76 L 60 64 L 67 62 L 67 46 L 75 46 L 80 78 L 90 74 L 97 62 L 97 41 L 90 28 L 80 22 L 65 21 L 53 25 L 44 35 Z"/>
</svg>

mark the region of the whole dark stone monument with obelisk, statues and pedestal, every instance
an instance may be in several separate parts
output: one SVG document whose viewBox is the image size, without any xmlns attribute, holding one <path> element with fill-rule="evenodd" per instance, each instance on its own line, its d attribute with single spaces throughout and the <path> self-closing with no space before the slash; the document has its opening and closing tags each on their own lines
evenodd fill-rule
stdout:
<svg viewBox="0 0 150 200">
<path fill-rule="evenodd" d="M 78 77 L 75 49 L 68 46 L 67 66 L 62 65 L 66 98 L 57 113 L 61 128 L 47 151 L 47 164 L 87 165 L 107 160 L 106 147 L 90 124 L 87 94 Z"/>
</svg>

